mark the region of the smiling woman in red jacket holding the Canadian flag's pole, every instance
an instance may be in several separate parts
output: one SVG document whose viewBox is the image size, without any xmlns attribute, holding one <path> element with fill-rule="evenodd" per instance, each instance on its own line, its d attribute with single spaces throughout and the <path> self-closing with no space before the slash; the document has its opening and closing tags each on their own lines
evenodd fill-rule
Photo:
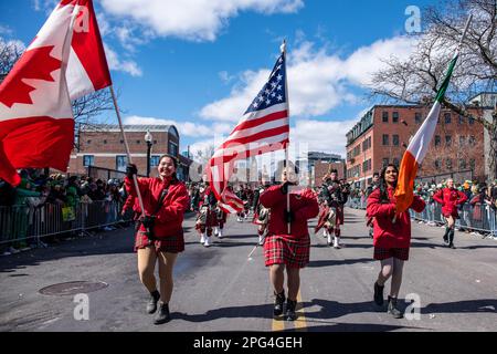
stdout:
<svg viewBox="0 0 497 354">
<path fill-rule="evenodd" d="M 157 178 L 138 178 L 144 199 L 145 218 L 140 218 L 135 237 L 135 251 L 138 253 L 138 272 L 141 283 L 150 292 L 147 312 L 157 311 L 154 323 L 161 324 L 170 320 L 169 301 L 173 281 L 172 269 L 179 252 L 184 250 L 183 214 L 189 204 L 188 190 L 176 177 L 178 160 L 170 155 L 160 157 Z M 135 165 L 126 169 L 125 185 L 129 195 L 137 198 L 133 175 Z M 137 210 L 141 215 L 141 210 Z M 159 263 L 160 293 L 154 275 Z"/>
</svg>

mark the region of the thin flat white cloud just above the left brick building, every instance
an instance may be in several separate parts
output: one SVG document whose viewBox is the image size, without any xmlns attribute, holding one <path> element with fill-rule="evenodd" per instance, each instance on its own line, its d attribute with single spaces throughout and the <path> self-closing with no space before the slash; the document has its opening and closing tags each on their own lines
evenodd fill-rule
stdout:
<svg viewBox="0 0 497 354">
<path fill-rule="evenodd" d="M 162 119 L 156 117 L 129 116 L 125 118 L 126 124 L 169 124 L 178 128 L 180 136 L 189 137 L 214 137 L 229 134 L 233 128 L 230 124 L 213 123 L 212 125 L 198 124 L 195 122 L 180 122 L 175 119 Z"/>
</svg>

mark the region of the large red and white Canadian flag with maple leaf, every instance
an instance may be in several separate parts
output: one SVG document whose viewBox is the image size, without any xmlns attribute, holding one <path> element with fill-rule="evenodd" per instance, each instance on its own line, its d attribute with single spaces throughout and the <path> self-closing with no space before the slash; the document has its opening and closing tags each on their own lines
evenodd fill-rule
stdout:
<svg viewBox="0 0 497 354">
<path fill-rule="evenodd" d="M 66 170 L 71 97 L 109 77 L 91 0 L 62 0 L 0 84 L 0 178 L 17 186 L 18 168 Z"/>
</svg>

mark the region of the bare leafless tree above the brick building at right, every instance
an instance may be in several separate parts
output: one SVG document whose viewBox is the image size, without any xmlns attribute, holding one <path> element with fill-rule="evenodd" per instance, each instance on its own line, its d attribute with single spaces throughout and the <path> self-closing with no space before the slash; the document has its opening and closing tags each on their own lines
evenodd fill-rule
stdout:
<svg viewBox="0 0 497 354">
<path fill-rule="evenodd" d="M 483 110 L 476 116 L 468 112 L 474 107 L 468 101 L 478 93 L 497 88 L 497 0 L 445 1 L 427 8 L 423 15 L 425 31 L 419 35 L 417 50 L 405 61 L 387 59 L 387 67 L 373 75 L 370 88 L 373 98 L 385 102 L 433 104 L 469 13 L 473 21 L 442 104 L 466 118 L 474 118 L 488 132 L 488 178 L 494 179 L 497 175 L 497 107 L 487 121 Z"/>
</svg>

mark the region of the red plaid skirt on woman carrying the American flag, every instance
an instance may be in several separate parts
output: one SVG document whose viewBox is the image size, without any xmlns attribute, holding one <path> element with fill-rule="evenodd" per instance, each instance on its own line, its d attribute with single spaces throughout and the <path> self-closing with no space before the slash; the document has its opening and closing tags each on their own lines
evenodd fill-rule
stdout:
<svg viewBox="0 0 497 354">
<path fill-rule="evenodd" d="M 264 242 L 266 267 L 286 264 L 288 268 L 304 268 L 309 263 L 310 238 L 290 239 L 271 235 Z"/>
</svg>

